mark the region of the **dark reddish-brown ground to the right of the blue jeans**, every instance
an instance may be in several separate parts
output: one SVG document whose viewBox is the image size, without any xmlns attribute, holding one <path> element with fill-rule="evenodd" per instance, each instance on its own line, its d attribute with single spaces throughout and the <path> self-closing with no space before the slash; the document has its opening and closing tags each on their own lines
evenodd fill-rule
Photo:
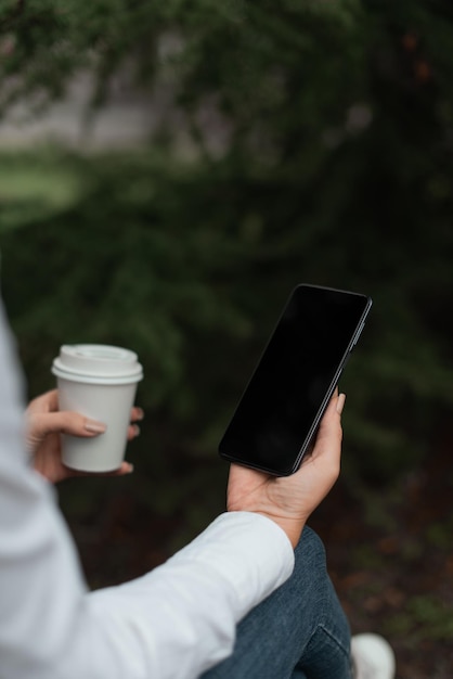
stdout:
<svg viewBox="0 0 453 679">
<path fill-rule="evenodd" d="M 453 678 L 452 452 L 365 502 L 339 484 L 313 520 L 352 631 L 390 641 L 399 679 Z"/>
</svg>

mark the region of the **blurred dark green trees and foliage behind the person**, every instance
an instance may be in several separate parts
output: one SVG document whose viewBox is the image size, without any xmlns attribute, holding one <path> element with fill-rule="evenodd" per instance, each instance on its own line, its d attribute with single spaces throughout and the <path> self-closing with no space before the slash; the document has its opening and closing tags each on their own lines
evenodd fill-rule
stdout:
<svg viewBox="0 0 453 679">
<path fill-rule="evenodd" d="M 61 492 L 92 581 L 104 581 L 90 571 L 93 541 L 98 567 L 107 553 L 100 527 L 127 552 L 125 515 L 135 526 L 153 516 L 160 542 L 128 562 L 140 572 L 222 510 L 218 440 L 299 282 L 374 299 L 341 385 L 336 501 L 364 508 L 370 530 L 406 535 L 401 498 L 419 509 L 443 484 L 444 504 L 400 561 L 416 568 L 426 538 L 443 559 L 432 568 L 451 578 L 451 3 L 2 0 L 0 31 L 4 120 L 17 106 L 44 117 L 80 73 L 90 75 L 87 139 L 118 87 L 153 120 L 127 149 L 93 151 L 81 137 L 0 152 L 2 294 L 30 395 L 52 387 L 62 343 L 124 345 L 145 370 L 135 477 Z M 114 581 L 126 555 L 108 559 Z M 412 639 L 404 649 L 428 628 L 453 638 L 451 588 L 411 599 L 405 617 L 397 594 L 368 614 L 391 614 L 390 631 Z M 429 674 L 418 658 L 422 674 L 401 676 L 446 678 L 452 658 L 442 658 L 444 648 Z"/>
</svg>

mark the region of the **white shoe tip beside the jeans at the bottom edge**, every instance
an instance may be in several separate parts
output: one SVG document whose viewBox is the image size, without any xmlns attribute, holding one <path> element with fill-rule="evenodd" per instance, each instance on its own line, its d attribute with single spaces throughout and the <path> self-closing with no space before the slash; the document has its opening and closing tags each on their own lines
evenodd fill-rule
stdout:
<svg viewBox="0 0 453 679">
<path fill-rule="evenodd" d="M 393 679 L 397 663 L 390 644 L 378 635 L 357 635 L 351 639 L 354 679 Z"/>
</svg>

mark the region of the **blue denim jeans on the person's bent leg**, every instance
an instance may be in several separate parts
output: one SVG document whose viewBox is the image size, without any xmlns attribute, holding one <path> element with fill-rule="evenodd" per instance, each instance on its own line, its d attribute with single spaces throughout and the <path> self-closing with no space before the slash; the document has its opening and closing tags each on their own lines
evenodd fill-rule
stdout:
<svg viewBox="0 0 453 679">
<path fill-rule="evenodd" d="M 233 654 L 203 679 L 350 679 L 350 631 L 306 527 L 292 577 L 240 623 Z"/>
</svg>

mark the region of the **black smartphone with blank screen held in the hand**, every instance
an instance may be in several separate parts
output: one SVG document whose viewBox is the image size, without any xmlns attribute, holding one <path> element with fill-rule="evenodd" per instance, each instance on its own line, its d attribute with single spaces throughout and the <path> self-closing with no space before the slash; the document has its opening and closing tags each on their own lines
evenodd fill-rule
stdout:
<svg viewBox="0 0 453 679">
<path fill-rule="evenodd" d="M 363 294 L 297 285 L 219 444 L 230 462 L 296 472 L 370 312 Z"/>
</svg>

